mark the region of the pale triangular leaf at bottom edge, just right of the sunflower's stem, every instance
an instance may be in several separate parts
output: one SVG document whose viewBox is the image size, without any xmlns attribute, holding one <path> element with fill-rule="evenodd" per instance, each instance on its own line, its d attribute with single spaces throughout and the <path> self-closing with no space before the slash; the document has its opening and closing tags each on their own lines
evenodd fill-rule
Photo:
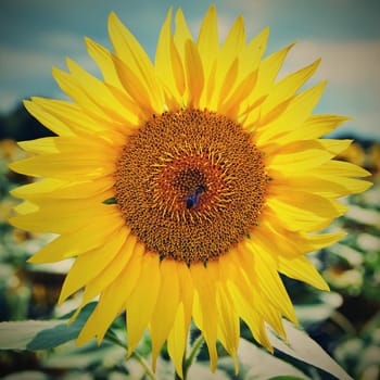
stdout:
<svg viewBox="0 0 380 380">
<path fill-rule="evenodd" d="M 241 364 L 241 372 L 245 372 L 244 380 L 276 379 L 278 377 L 297 380 L 309 379 L 300 369 L 245 339 L 240 339 L 238 359 Z M 232 360 L 230 359 L 230 362 Z M 218 367 L 224 368 L 224 363 L 218 364 Z"/>
</svg>

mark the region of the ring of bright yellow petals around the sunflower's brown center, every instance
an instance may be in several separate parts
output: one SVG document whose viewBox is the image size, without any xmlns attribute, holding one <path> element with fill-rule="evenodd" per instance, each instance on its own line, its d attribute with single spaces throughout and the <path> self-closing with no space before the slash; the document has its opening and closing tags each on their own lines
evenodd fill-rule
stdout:
<svg viewBox="0 0 380 380">
<path fill-rule="evenodd" d="M 181 10 L 172 33 L 169 10 L 154 64 L 114 13 L 109 31 L 114 52 L 86 38 L 102 79 L 68 60 L 68 73 L 54 68 L 53 76 L 73 102 L 25 101 L 29 113 L 58 136 L 21 143 L 30 156 L 11 168 L 47 178 L 12 192 L 26 201 L 11 223 L 60 235 L 30 262 L 76 257 L 60 302 L 83 289 L 80 309 L 99 296 L 78 343 L 96 337 L 100 342 L 126 309 L 128 355 L 149 329 L 153 367 L 166 341 L 182 377 L 193 320 L 205 338 L 212 370 L 217 341 L 238 370 L 240 319 L 269 351 L 265 324 L 284 337 L 281 318 L 296 322 L 279 274 L 328 290 L 305 254 L 342 238 L 341 232 L 318 231 L 345 212 L 338 198 L 370 186 L 359 179 L 368 176 L 365 169 L 334 160 L 349 140 L 320 139 L 347 118 L 313 115 L 325 81 L 300 91 L 319 60 L 277 80 L 293 45 L 262 60 L 269 29 L 246 42 L 242 17 L 219 43 L 215 7 L 197 39 Z M 268 176 L 258 226 L 217 259 L 190 267 L 161 261 L 113 204 L 115 165 L 125 141 L 153 115 L 180 109 L 211 110 L 241 123 L 262 152 Z"/>
</svg>

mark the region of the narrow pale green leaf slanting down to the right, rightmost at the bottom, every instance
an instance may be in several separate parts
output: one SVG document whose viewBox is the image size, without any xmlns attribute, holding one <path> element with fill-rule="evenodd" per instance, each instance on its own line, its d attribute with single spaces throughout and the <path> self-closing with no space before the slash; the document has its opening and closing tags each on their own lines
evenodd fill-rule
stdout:
<svg viewBox="0 0 380 380">
<path fill-rule="evenodd" d="M 279 339 L 271 329 L 267 329 L 269 341 L 274 347 L 301 362 L 320 368 L 333 375 L 337 379 L 353 380 L 350 375 L 304 331 L 299 330 L 288 320 L 283 320 L 283 327 L 287 332 L 288 343 Z"/>
</svg>

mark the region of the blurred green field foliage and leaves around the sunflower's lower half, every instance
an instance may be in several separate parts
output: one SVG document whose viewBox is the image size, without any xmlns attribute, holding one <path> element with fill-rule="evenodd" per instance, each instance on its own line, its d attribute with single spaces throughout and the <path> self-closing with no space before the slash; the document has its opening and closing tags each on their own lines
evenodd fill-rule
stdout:
<svg viewBox="0 0 380 380">
<path fill-rule="evenodd" d="M 7 123 L 17 124 L 15 119 Z M 37 268 L 26 263 L 50 237 L 23 232 L 7 223 L 11 207 L 17 203 L 9 191 L 30 181 L 8 170 L 8 163 L 22 154 L 14 142 L 0 141 L 0 320 L 7 320 L 0 324 L 0 377 L 13 373 L 17 380 L 50 380 L 51 373 L 61 373 L 53 378 L 147 378 L 142 364 L 150 359 L 148 334 L 137 349 L 139 354 L 128 360 L 124 318 L 115 320 L 100 346 L 90 342 L 76 347 L 74 341 L 96 303 L 87 305 L 67 326 L 69 315 L 59 318 L 62 313 L 55 307 L 64 268 L 54 271 L 52 266 Z M 317 292 L 286 280 L 306 331 L 286 322 L 287 343 L 269 331 L 276 347 L 271 355 L 254 343 L 242 324 L 239 373 L 235 373 L 232 359 L 218 345 L 220 359 L 216 373 L 211 375 L 203 346 L 188 379 L 351 379 L 346 372 L 358 380 L 380 378 L 380 191 L 378 172 L 375 166 L 368 168 L 373 173 L 373 188 L 349 198 L 350 212 L 337 223 L 349 232 L 347 237 L 314 255 L 332 292 Z M 113 204 L 114 200 L 104 202 Z M 165 350 L 159 357 L 156 378 L 174 378 Z"/>
</svg>

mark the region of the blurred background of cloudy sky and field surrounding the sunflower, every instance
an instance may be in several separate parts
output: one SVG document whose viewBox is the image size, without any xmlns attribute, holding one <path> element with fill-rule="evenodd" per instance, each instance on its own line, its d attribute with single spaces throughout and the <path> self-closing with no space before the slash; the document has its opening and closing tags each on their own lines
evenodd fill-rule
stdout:
<svg viewBox="0 0 380 380">
<path fill-rule="evenodd" d="M 297 42 L 279 77 L 321 56 L 321 65 L 307 85 L 326 78 L 329 83 L 315 113 L 353 117 L 332 136 L 355 139 L 340 159 L 367 168 L 375 185 L 364 194 L 343 200 L 350 211 L 333 227 L 345 229 L 346 238 L 313 255 L 332 291 L 315 292 L 287 279 L 286 284 L 311 337 L 354 379 L 380 379 L 380 2 L 377 0 L 1 0 L 0 320 L 56 317 L 76 302 L 74 297 L 72 304 L 55 307 L 67 263 L 53 266 L 26 263 L 51 237 L 7 224 L 11 208 L 18 202 L 9 191 L 33 181 L 8 169 L 10 162 L 25 156 L 15 141 L 49 135 L 26 113 L 22 100 L 30 96 L 63 98 L 52 79 L 51 67 L 65 68 L 66 56 L 99 75 L 86 53 L 84 37 L 111 48 L 106 26 L 111 11 L 118 14 L 154 59 L 157 35 L 170 5 L 175 10 L 182 8 L 197 36 L 212 3 L 217 5 L 221 39 L 233 20 L 243 14 L 248 39 L 270 26 L 267 54 Z M 111 355 L 110 350 L 113 349 L 105 346 L 100 353 L 91 346 L 78 350 L 68 344 L 64 350 L 48 353 L 0 352 L 0 377 L 125 379 L 134 372 L 136 363 L 126 364 L 123 351 Z M 200 362 L 206 359 L 205 355 L 201 354 Z M 223 379 L 220 373 L 218 379 Z M 329 379 L 319 372 L 308 375 Z"/>
</svg>

